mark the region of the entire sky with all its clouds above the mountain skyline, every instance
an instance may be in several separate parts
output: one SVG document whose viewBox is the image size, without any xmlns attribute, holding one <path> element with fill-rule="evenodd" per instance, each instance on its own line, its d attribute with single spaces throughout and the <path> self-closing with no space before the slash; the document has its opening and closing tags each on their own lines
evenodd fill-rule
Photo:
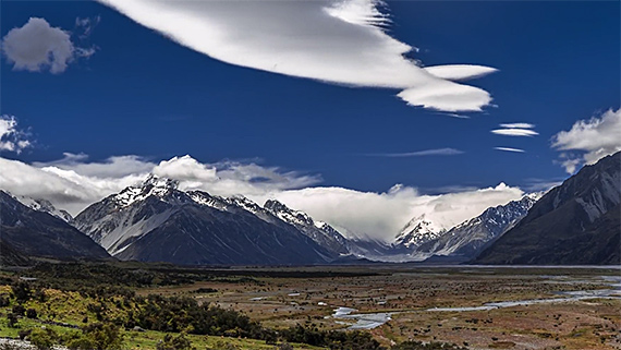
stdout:
<svg viewBox="0 0 621 350">
<path fill-rule="evenodd" d="M 619 1 L 2 1 L 0 189 L 147 172 L 389 240 L 621 149 Z"/>
</svg>

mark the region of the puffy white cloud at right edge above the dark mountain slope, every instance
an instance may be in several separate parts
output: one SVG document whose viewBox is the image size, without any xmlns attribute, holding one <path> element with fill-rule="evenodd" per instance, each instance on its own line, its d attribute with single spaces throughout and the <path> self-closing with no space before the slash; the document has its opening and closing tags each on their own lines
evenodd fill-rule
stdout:
<svg viewBox="0 0 621 350">
<path fill-rule="evenodd" d="M 552 147 L 570 152 L 560 155 L 560 164 L 569 173 L 575 172 L 579 166 L 594 164 L 621 150 L 621 109 L 609 109 L 600 116 L 576 121 L 569 131 L 552 136 Z"/>
</svg>

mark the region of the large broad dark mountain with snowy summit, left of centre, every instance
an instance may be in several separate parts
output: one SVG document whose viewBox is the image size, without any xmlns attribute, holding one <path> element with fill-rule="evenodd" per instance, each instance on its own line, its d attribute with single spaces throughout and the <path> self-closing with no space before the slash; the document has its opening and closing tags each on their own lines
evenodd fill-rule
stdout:
<svg viewBox="0 0 621 350">
<path fill-rule="evenodd" d="M 183 192 L 155 177 L 89 206 L 75 225 L 122 260 L 300 265 L 334 257 L 252 201 Z"/>
</svg>

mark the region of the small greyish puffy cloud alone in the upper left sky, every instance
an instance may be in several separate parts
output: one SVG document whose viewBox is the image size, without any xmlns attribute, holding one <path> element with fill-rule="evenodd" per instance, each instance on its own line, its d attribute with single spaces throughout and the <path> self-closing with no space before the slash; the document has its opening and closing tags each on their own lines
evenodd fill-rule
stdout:
<svg viewBox="0 0 621 350">
<path fill-rule="evenodd" d="M 90 33 L 92 26 L 88 26 Z M 45 19 L 31 17 L 2 39 L 2 51 L 14 70 L 58 74 L 77 57 L 90 57 L 95 48 L 76 47 L 71 33 L 52 27 Z"/>
</svg>

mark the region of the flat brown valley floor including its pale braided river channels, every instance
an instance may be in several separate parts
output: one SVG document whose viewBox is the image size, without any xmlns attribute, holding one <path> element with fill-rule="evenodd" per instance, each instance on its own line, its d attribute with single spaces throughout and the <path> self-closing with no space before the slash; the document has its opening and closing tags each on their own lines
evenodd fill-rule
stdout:
<svg viewBox="0 0 621 350">
<path fill-rule="evenodd" d="M 618 267 L 370 265 L 175 274 L 211 277 L 134 290 L 145 297 L 188 295 L 199 303 L 240 311 L 273 329 L 297 324 L 319 330 L 364 329 L 387 348 L 411 339 L 452 342 L 468 349 L 621 349 Z M 9 286 L 0 287 L 3 293 L 10 293 Z M 48 304 L 58 294 L 57 303 L 62 305 L 54 321 L 80 324 L 87 314 L 89 301 L 81 300 L 78 293 L 47 293 Z M 502 303 L 512 301 L 519 302 Z M 38 307 L 33 301 L 26 306 Z M 45 314 L 45 307 L 40 309 Z M 19 329 L 8 327 L 9 312 L 9 306 L 0 309 L 0 337 L 14 338 Z M 21 323 L 36 326 L 25 317 Z M 163 333 L 153 330 L 124 331 L 131 349 L 154 349 L 163 337 Z M 258 340 L 188 337 L 197 349 L 226 342 L 239 349 L 273 349 Z"/>
</svg>

